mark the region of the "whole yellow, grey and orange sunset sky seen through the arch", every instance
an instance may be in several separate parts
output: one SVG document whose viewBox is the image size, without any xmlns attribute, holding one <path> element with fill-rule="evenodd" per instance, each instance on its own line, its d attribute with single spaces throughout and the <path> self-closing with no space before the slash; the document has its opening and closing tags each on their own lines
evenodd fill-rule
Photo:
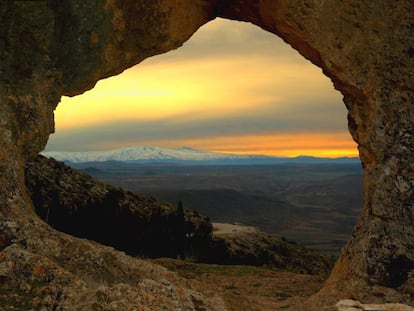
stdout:
<svg viewBox="0 0 414 311">
<path fill-rule="evenodd" d="M 342 95 L 277 36 L 216 19 L 177 50 L 62 97 L 48 151 L 158 146 L 357 156 Z"/>
</svg>

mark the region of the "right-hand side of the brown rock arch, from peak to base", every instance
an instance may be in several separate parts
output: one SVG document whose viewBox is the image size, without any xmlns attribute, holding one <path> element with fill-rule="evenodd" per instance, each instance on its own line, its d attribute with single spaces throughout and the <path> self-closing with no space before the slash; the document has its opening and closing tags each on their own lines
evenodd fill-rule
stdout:
<svg viewBox="0 0 414 311">
<path fill-rule="evenodd" d="M 414 272 L 412 1 L 229 1 L 223 17 L 282 37 L 344 95 L 365 206 L 319 294 L 411 300 Z"/>
</svg>

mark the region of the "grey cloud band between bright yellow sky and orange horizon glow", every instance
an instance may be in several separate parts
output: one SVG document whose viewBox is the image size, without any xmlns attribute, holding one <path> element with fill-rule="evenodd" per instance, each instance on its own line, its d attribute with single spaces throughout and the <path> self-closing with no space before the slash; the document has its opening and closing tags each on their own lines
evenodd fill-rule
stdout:
<svg viewBox="0 0 414 311">
<path fill-rule="evenodd" d="M 157 120 L 129 120 L 105 122 L 99 125 L 66 129 L 54 134 L 48 144 L 49 150 L 91 150 L 99 146 L 117 145 L 119 142 L 135 144 L 207 139 L 211 137 L 239 137 L 246 135 L 275 135 L 295 133 L 347 133 L 344 122 L 332 117 L 335 109 L 313 112 L 306 109 L 290 115 L 273 114 L 271 109 L 240 113 L 235 116 L 205 118 L 199 114 L 181 115 L 176 118 Z M 333 105 L 332 105 L 333 107 Z M 313 117 L 310 117 L 314 113 Z"/>
</svg>

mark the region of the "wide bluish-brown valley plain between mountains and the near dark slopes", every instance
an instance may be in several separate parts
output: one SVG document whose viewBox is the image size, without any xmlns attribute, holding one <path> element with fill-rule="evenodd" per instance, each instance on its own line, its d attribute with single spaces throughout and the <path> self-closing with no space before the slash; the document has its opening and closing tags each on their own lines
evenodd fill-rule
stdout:
<svg viewBox="0 0 414 311">
<path fill-rule="evenodd" d="M 357 163 L 70 163 L 101 181 L 337 256 L 363 206 Z"/>
</svg>

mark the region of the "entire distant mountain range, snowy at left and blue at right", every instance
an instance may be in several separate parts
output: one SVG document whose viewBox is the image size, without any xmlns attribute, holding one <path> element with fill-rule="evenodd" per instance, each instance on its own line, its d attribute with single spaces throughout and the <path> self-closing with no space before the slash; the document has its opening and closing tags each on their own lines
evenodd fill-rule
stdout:
<svg viewBox="0 0 414 311">
<path fill-rule="evenodd" d="M 128 147 L 107 151 L 62 152 L 44 151 L 43 155 L 59 161 L 82 162 L 195 162 L 197 164 L 278 164 L 278 163 L 358 163 L 359 158 L 318 158 L 312 156 L 299 156 L 294 158 L 264 156 L 264 155 L 236 155 L 181 147 L 167 149 L 152 146 Z"/>
</svg>

